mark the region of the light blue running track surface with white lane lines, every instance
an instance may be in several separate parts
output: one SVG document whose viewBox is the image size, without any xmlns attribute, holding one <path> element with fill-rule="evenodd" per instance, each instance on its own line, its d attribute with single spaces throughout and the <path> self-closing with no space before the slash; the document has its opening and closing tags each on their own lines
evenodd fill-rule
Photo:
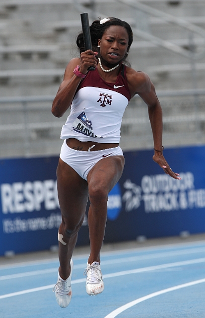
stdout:
<svg viewBox="0 0 205 318">
<path fill-rule="evenodd" d="M 73 258 L 72 299 L 58 306 L 59 262 L 0 266 L 1 318 L 205 318 L 205 241 L 105 252 L 105 290 L 85 291 L 87 258 Z"/>
</svg>

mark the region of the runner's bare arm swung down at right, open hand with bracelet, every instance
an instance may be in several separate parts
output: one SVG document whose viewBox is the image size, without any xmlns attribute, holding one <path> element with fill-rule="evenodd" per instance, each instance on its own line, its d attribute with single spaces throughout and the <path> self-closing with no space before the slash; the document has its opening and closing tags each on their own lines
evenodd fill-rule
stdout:
<svg viewBox="0 0 205 318">
<path fill-rule="evenodd" d="M 154 155 L 153 160 L 160 165 L 165 173 L 169 174 L 174 179 L 181 179 L 178 173 L 175 173 L 170 168 L 166 159 L 163 156 L 162 147 L 162 108 L 156 96 L 155 88 L 147 74 L 143 72 L 133 73 L 134 85 L 131 89 L 135 88 L 138 95 L 143 99 L 148 107 L 148 115 L 151 124 L 153 142 L 154 142 Z"/>
</svg>

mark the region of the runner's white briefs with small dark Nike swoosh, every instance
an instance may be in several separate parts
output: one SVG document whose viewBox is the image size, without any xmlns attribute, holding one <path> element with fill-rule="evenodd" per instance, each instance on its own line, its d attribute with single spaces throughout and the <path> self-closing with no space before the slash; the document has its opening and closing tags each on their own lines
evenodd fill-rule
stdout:
<svg viewBox="0 0 205 318">
<path fill-rule="evenodd" d="M 66 139 L 64 140 L 60 154 L 60 158 L 85 180 L 87 180 L 88 172 L 99 160 L 111 156 L 123 156 L 120 146 L 90 152 L 80 151 L 69 148 Z"/>
</svg>

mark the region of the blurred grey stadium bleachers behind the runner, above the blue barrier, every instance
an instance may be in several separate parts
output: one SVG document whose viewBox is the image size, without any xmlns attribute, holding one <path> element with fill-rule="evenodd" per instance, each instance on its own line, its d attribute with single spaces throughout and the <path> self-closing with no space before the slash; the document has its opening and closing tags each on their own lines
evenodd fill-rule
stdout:
<svg viewBox="0 0 205 318">
<path fill-rule="evenodd" d="M 204 0 L 0 0 L 0 158 L 59 154 L 66 117 L 56 119 L 51 103 L 68 61 L 78 56 L 83 11 L 90 22 L 117 16 L 133 27 L 129 61 L 159 92 L 164 146 L 204 143 Z M 137 96 L 124 115 L 121 147 L 152 147 Z"/>
</svg>

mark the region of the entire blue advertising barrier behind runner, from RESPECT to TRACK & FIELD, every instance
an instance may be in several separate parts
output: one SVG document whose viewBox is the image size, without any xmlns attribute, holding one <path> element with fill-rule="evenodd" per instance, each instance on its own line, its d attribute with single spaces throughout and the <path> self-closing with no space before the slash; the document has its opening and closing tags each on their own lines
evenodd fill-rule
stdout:
<svg viewBox="0 0 205 318">
<path fill-rule="evenodd" d="M 164 151 L 182 180 L 165 174 L 153 151 L 124 156 L 123 175 L 108 196 L 104 242 L 205 232 L 204 146 Z M 57 164 L 58 157 L 0 160 L 0 255 L 58 245 Z M 87 244 L 86 215 L 77 245 Z"/>
</svg>

